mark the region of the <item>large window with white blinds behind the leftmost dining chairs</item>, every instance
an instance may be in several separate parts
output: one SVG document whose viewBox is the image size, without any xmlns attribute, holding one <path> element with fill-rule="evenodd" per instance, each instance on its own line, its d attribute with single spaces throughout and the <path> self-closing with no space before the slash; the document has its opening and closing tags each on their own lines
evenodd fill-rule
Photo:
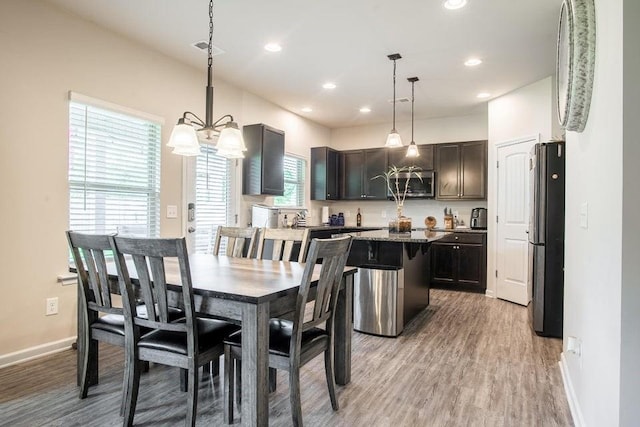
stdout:
<svg viewBox="0 0 640 427">
<path fill-rule="evenodd" d="M 159 236 L 161 122 L 79 99 L 90 98 L 69 104 L 69 228 Z"/>
</svg>

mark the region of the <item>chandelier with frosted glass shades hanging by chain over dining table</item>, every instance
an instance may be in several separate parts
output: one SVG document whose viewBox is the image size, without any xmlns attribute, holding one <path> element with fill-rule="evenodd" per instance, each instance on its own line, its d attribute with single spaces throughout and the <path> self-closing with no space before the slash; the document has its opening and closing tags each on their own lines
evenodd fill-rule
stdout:
<svg viewBox="0 0 640 427">
<path fill-rule="evenodd" d="M 216 145 L 218 154 L 227 158 L 243 158 L 243 151 L 247 151 L 242 138 L 242 132 L 233 116 L 226 114 L 213 121 L 213 0 L 209 1 L 209 46 L 207 51 L 207 92 L 205 104 L 205 120 L 191 111 L 185 111 L 178 124 L 175 125 L 169 137 L 168 147 L 173 147 L 173 153 L 182 156 L 197 156 L 200 154 L 199 137 L 204 142 Z M 194 125 L 199 129 L 194 128 Z M 199 135 L 199 137 L 198 137 Z"/>
</svg>

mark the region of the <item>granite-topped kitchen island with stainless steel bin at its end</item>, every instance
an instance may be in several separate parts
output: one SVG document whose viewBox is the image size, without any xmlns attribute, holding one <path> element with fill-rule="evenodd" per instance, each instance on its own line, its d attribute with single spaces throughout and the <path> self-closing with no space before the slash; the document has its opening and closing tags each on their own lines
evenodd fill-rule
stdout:
<svg viewBox="0 0 640 427">
<path fill-rule="evenodd" d="M 429 247 L 448 232 L 372 230 L 353 237 L 348 265 L 359 267 L 354 291 L 354 328 L 399 335 L 429 305 Z"/>
</svg>

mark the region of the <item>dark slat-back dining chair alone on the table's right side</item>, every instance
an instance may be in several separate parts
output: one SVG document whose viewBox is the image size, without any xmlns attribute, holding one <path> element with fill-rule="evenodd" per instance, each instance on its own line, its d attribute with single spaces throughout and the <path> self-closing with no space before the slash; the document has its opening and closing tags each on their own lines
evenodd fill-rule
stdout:
<svg viewBox="0 0 640 427">
<path fill-rule="evenodd" d="M 324 353 L 325 375 L 329 388 L 331 406 L 338 410 L 333 369 L 333 322 L 338 292 L 344 271 L 351 237 L 335 239 L 313 239 L 296 299 L 293 321 L 271 319 L 269 321 L 269 367 L 289 371 L 289 399 L 294 426 L 302 426 L 300 403 L 300 367 L 321 353 Z M 305 321 L 305 307 L 309 300 L 311 282 L 314 279 L 316 261 L 322 260 L 312 302 L 312 313 Z M 322 328 L 324 324 L 324 328 Z M 233 422 L 234 382 L 240 375 L 233 372 L 241 369 L 242 332 L 230 335 L 224 341 L 224 419 Z M 234 367 L 235 362 L 235 367 Z M 234 379 L 235 377 L 235 379 Z M 236 401 L 240 399 L 241 385 L 235 387 Z"/>
</svg>

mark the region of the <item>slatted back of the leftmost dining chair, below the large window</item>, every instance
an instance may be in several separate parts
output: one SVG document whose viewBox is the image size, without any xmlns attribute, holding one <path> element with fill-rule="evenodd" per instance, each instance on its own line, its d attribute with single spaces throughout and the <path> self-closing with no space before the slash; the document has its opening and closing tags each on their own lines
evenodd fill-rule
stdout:
<svg viewBox="0 0 640 427">
<path fill-rule="evenodd" d="M 88 309 L 121 314 L 113 307 L 109 290 L 106 257 L 111 253 L 107 234 L 85 234 L 67 231 L 67 241 L 78 270 L 80 292 Z"/>
</svg>

